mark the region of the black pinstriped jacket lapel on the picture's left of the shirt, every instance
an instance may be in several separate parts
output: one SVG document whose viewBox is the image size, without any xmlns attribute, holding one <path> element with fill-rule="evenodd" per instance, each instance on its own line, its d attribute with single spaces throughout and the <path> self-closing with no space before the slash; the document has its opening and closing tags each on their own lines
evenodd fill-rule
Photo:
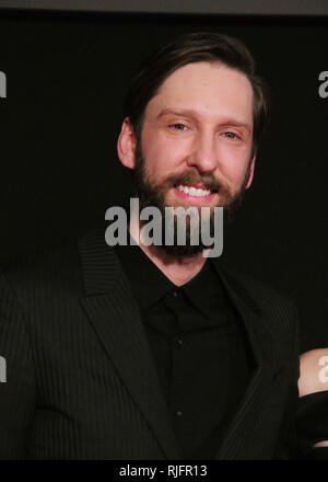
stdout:
<svg viewBox="0 0 328 482">
<path fill-rule="evenodd" d="M 81 303 L 165 457 L 177 459 L 177 443 L 140 311 L 104 234 L 105 230 L 98 230 L 79 242 L 85 288 Z"/>
</svg>

